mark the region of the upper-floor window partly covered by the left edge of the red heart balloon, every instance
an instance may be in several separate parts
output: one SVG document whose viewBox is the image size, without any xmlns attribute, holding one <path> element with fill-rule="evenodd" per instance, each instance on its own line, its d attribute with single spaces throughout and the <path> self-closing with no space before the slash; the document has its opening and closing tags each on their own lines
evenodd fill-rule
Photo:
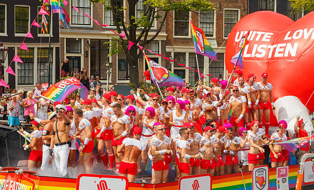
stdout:
<svg viewBox="0 0 314 190">
<path fill-rule="evenodd" d="M 225 10 L 224 12 L 224 37 L 228 37 L 235 23 L 239 21 L 239 10 Z"/>
</svg>

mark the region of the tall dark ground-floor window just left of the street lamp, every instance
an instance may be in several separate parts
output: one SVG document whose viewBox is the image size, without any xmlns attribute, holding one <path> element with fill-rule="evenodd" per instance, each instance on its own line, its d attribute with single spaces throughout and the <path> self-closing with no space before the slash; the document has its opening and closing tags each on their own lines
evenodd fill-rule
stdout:
<svg viewBox="0 0 314 190">
<path fill-rule="evenodd" d="M 94 78 L 99 76 L 101 80 L 107 80 L 107 67 L 105 62 L 109 62 L 109 47 L 105 43 L 108 40 L 90 40 L 90 75 Z"/>
</svg>

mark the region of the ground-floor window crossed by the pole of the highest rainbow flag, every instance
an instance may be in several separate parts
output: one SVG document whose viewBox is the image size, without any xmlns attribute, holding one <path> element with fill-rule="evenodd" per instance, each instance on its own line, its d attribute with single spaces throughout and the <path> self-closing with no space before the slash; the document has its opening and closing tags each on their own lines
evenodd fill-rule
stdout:
<svg viewBox="0 0 314 190">
<path fill-rule="evenodd" d="M 198 61 L 199 61 L 200 72 L 204 73 L 204 56 L 198 55 Z M 196 62 L 195 53 L 189 53 L 189 67 L 192 67 L 193 69 L 198 70 L 198 64 Z M 194 86 L 195 83 L 197 83 L 199 80 L 199 73 L 195 72 L 192 69 L 188 69 L 188 70 L 189 70 L 189 83 L 191 86 Z"/>
</svg>

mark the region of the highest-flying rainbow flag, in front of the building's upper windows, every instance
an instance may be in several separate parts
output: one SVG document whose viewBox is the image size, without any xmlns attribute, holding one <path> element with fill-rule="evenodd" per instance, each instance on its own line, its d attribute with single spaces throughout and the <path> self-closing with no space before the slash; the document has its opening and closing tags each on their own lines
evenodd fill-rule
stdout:
<svg viewBox="0 0 314 190">
<path fill-rule="evenodd" d="M 202 29 L 195 27 L 191 20 L 192 36 L 195 53 L 217 60 L 217 54 L 213 51 Z"/>
</svg>

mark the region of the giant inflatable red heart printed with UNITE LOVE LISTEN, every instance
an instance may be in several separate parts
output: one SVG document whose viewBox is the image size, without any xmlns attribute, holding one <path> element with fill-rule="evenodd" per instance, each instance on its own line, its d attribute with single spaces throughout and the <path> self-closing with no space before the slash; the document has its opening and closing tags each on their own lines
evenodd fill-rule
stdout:
<svg viewBox="0 0 314 190">
<path fill-rule="evenodd" d="M 274 101 L 281 97 L 297 97 L 304 105 L 314 89 L 311 79 L 314 70 L 314 12 L 296 22 L 287 16 L 272 11 L 259 11 L 243 17 L 232 29 L 226 45 L 226 68 L 231 71 L 230 62 L 239 49 L 240 39 L 250 30 L 249 43 L 243 50 L 243 74 L 268 73 L 267 81 L 273 86 Z M 276 105 L 276 104 L 275 104 Z M 314 111 L 314 97 L 306 107 Z M 294 115 L 293 115 L 294 116 Z M 271 120 L 276 125 L 276 120 Z"/>
</svg>

